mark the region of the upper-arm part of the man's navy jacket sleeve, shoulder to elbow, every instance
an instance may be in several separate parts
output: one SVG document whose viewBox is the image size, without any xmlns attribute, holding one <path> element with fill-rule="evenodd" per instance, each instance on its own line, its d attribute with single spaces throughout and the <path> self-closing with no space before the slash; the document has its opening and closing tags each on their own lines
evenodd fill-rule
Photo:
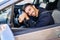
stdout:
<svg viewBox="0 0 60 40">
<path fill-rule="evenodd" d="M 50 13 L 45 13 L 41 15 L 33 27 L 42 27 L 49 25 L 52 21 L 52 16 Z"/>
</svg>

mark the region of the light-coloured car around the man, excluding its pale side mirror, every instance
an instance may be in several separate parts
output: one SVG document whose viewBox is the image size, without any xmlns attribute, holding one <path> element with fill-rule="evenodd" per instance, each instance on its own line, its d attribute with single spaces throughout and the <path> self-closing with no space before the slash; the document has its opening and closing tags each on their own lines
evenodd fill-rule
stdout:
<svg viewBox="0 0 60 40">
<path fill-rule="evenodd" d="M 40 28 L 20 26 L 17 23 L 17 13 L 26 3 L 32 3 L 51 12 L 55 24 Z M 0 6 L 0 10 L 0 24 L 7 24 L 11 28 L 15 40 L 60 40 L 60 0 L 16 0 L 6 6 Z"/>
</svg>

